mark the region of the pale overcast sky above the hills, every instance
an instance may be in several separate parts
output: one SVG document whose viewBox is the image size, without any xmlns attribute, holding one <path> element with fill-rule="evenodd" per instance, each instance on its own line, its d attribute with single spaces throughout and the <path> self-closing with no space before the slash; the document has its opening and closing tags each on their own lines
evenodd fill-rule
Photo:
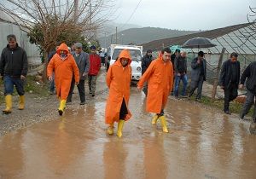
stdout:
<svg viewBox="0 0 256 179">
<path fill-rule="evenodd" d="M 116 0 L 114 21 L 125 23 L 140 0 Z M 247 22 L 256 0 L 142 0 L 128 24 L 179 30 L 210 30 Z"/>
</svg>

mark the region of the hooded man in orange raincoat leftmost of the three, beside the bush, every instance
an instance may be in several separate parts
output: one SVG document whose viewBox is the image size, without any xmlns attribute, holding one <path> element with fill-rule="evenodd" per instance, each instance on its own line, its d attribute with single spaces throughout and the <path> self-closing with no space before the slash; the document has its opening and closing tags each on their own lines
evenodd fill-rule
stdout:
<svg viewBox="0 0 256 179">
<path fill-rule="evenodd" d="M 67 44 L 61 43 L 56 54 L 52 57 L 47 66 L 47 76 L 52 80 L 52 72 L 55 72 L 55 87 L 57 96 L 60 98 L 59 114 L 62 115 L 66 106 L 67 95 L 70 90 L 71 81 L 74 75 L 75 84 L 79 84 L 79 68 L 68 51 Z"/>
</svg>

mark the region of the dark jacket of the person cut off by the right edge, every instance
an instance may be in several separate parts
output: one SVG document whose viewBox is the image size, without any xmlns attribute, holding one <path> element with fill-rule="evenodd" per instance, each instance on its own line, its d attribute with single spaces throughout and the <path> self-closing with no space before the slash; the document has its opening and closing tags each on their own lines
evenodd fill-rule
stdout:
<svg viewBox="0 0 256 179">
<path fill-rule="evenodd" d="M 247 90 L 256 93 L 256 61 L 250 63 L 245 71 L 241 74 L 240 84 L 244 84 L 247 79 Z"/>
</svg>

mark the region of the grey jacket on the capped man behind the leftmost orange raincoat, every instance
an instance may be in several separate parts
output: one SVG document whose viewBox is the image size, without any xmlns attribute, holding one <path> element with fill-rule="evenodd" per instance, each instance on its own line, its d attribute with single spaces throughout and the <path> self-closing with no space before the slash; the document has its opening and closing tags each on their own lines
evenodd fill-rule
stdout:
<svg viewBox="0 0 256 179">
<path fill-rule="evenodd" d="M 75 51 L 71 53 L 73 57 L 75 58 Z M 89 54 L 86 52 L 82 51 L 81 54 L 79 55 L 79 61 L 77 62 L 77 66 L 79 67 L 79 77 L 80 80 L 84 80 L 86 77 L 83 76 L 84 72 L 89 72 L 90 69 L 90 60 L 89 60 Z"/>
</svg>

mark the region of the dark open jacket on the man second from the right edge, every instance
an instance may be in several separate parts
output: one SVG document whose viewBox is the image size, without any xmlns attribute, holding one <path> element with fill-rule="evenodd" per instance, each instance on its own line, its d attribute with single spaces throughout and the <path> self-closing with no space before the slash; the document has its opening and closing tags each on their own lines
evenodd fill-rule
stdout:
<svg viewBox="0 0 256 179">
<path fill-rule="evenodd" d="M 220 72 L 220 76 L 219 76 L 219 80 L 218 80 L 218 84 L 220 86 L 224 86 L 224 88 L 229 88 L 230 84 L 231 84 L 231 78 L 232 78 L 232 73 L 231 73 L 231 60 L 227 60 L 224 61 L 222 68 L 221 68 L 221 72 Z M 239 79 L 240 79 L 240 62 L 236 61 L 236 84 L 238 87 L 239 84 Z"/>
</svg>

